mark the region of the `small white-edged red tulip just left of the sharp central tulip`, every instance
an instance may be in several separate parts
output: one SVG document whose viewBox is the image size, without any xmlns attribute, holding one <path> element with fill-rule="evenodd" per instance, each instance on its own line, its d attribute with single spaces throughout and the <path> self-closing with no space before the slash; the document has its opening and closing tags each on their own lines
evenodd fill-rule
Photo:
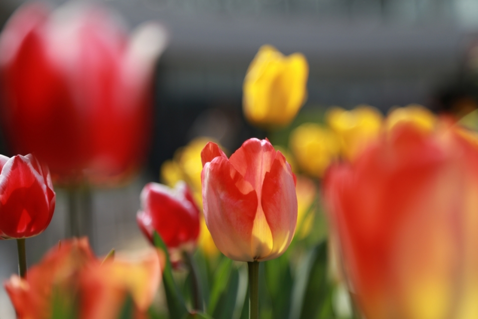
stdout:
<svg viewBox="0 0 478 319">
<path fill-rule="evenodd" d="M 139 228 L 152 242 L 157 231 L 169 249 L 173 262 L 181 259 L 182 251 L 191 252 L 199 236 L 199 209 L 191 190 L 184 182 L 174 189 L 148 183 L 141 192 L 141 210 L 136 220 Z"/>
</svg>

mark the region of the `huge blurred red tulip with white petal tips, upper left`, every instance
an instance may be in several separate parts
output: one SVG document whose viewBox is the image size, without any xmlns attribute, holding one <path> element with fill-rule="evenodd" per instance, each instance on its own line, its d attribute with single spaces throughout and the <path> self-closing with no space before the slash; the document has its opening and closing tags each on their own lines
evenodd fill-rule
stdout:
<svg viewBox="0 0 478 319">
<path fill-rule="evenodd" d="M 118 180 L 149 145 L 151 80 L 165 31 L 132 36 L 110 12 L 67 5 L 21 6 L 0 38 L 2 124 L 12 150 L 33 153 L 68 182 L 87 170 Z"/>
</svg>

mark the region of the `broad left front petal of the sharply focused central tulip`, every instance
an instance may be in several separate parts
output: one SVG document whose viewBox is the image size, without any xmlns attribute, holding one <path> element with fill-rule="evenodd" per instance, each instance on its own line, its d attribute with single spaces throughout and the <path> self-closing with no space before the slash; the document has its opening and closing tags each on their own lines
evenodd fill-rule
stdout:
<svg viewBox="0 0 478 319">
<path fill-rule="evenodd" d="M 231 259 L 253 261 L 255 190 L 224 157 L 206 163 L 201 179 L 204 216 L 216 246 Z"/>
</svg>

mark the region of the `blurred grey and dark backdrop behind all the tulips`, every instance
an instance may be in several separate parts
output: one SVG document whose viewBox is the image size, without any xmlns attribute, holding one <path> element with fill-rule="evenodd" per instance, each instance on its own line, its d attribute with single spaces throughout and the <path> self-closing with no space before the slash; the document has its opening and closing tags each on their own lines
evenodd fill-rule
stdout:
<svg viewBox="0 0 478 319">
<path fill-rule="evenodd" d="M 50 1 L 53 7 L 64 1 Z M 1 0 L 3 27 L 21 0 Z M 154 75 L 153 139 L 147 163 L 131 183 L 92 192 L 90 241 L 99 255 L 146 245 L 135 213 L 146 182 L 194 137 L 211 136 L 234 151 L 249 137 L 265 137 L 243 118 L 242 82 L 263 44 L 308 59 L 308 99 L 302 109 L 369 104 L 422 104 L 459 112 L 476 105 L 476 0 L 105 0 L 133 28 L 157 20 L 169 44 Z M 477 73 L 478 74 L 478 73 Z M 12 156 L 0 136 L 0 154 Z M 49 228 L 27 240 L 28 262 L 64 238 L 68 198 L 57 189 Z M 13 240 L 0 242 L 0 281 L 16 272 Z M 14 318 L 4 292 L 0 318 Z"/>
</svg>

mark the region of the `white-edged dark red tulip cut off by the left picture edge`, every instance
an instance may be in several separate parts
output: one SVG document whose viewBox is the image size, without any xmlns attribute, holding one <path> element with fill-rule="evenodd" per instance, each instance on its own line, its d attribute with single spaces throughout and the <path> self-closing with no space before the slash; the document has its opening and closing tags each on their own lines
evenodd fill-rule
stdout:
<svg viewBox="0 0 478 319">
<path fill-rule="evenodd" d="M 31 154 L 0 155 L 0 238 L 26 238 L 46 229 L 55 210 L 48 168 Z"/>
</svg>

